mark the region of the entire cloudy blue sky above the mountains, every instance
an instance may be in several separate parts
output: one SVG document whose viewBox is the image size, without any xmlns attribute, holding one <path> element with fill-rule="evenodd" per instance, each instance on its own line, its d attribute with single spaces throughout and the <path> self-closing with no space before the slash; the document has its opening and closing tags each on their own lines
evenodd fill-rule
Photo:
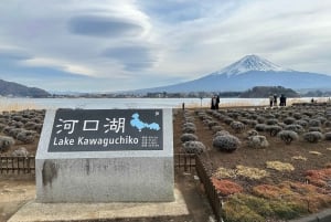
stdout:
<svg viewBox="0 0 331 222">
<path fill-rule="evenodd" d="M 0 78 L 116 92 L 191 81 L 257 54 L 331 74 L 331 1 L 1 0 Z"/>
</svg>

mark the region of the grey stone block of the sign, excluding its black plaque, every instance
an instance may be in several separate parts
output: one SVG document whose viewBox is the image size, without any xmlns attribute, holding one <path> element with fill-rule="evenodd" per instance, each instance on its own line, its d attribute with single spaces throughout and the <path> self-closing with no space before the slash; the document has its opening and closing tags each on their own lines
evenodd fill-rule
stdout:
<svg viewBox="0 0 331 222">
<path fill-rule="evenodd" d="M 163 109 L 163 149 L 47 152 L 47 110 L 35 158 L 36 202 L 169 202 L 173 194 L 172 110 Z"/>
</svg>

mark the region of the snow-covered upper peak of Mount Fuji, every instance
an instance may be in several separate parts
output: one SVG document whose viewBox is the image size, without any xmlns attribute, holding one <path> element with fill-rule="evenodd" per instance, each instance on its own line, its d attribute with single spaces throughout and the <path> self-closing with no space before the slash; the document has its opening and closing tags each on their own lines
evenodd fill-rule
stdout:
<svg viewBox="0 0 331 222">
<path fill-rule="evenodd" d="M 270 61 L 267 61 L 257 55 L 246 55 L 239 61 L 224 67 L 223 70 L 214 74 L 226 74 L 226 75 L 238 75 L 249 71 L 286 71 L 291 72 L 292 70 L 281 67 Z"/>
</svg>

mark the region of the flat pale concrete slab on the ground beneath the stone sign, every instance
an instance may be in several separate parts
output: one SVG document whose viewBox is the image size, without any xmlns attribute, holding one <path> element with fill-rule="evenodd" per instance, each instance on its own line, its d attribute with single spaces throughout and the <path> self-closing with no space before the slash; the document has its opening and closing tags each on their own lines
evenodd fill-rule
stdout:
<svg viewBox="0 0 331 222">
<path fill-rule="evenodd" d="M 172 202 L 40 203 L 33 200 L 23 205 L 8 222 L 117 221 L 116 219 L 124 218 L 129 221 L 189 214 L 182 193 L 174 188 Z"/>
</svg>

